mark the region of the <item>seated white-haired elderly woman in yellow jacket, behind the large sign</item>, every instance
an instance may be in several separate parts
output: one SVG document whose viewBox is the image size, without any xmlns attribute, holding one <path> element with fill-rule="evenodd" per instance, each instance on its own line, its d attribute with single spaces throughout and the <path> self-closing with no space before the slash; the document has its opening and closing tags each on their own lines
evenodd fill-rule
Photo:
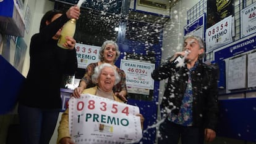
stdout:
<svg viewBox="0 0 256 144">
<path fill-rule="evenodd" d="M 92 82 L 96 84 L 96 86 L 83 90 L 83 94 L 93 94 L 123 103 L 113 92 L 114 85 L 119 81 L 120 76 L 117 73 L 116 68 L 109 63 L 103 63 L 95 68 L 94 74 L 92 75 Z M 140 116 L 140 122 L 143 124 L 144 118 L 142 114 L 137 114 L 137 116 Z M 59 122 L 57 143 L 74 143 L 69 134 L 68 109 L 62 114 L 61 121 Z"/>
</svg>

